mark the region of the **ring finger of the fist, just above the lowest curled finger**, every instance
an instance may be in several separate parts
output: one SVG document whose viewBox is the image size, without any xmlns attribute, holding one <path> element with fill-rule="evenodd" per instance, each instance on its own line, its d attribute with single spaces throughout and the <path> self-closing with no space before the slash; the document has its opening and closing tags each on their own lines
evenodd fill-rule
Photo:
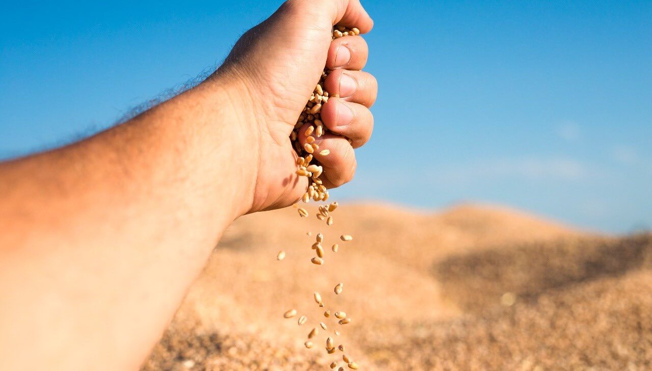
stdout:
<svg viewBox="0 0 652 371">
<path fill-rule="evenodd" d="M 351 139 L 353 148 L 367 143 L 374 130 L 374 116 L 367 107 L 339 98 L 331 98 L 321 106 L 321 120 L 333 133 Z"/>
</svg>

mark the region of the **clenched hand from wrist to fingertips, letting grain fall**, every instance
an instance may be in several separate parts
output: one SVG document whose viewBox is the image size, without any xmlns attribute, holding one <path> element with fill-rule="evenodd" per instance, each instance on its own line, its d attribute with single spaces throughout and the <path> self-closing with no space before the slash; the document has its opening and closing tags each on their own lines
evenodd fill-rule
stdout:
<svg viewBox="0 0 652 371">
<path fill-rule="evenodd" d="M 318 138 L 317 143 L 331 153 L 315 157 L 323 165 L 321 179 L 327 188 L 353 178 L 353 148 L 366 143 L 372 133 L 369 107 L 376 100 L 378 85 L 372 75 L 361 71 L 368 57 L 361 36 L 331 41 L 336 23 L 357 27 L 361 33 L 373 26 L 359 0 L 286 1 L 245 33 L 209 78 L 228 80 L 231 85 L 237 81 L 240 92 L 235 101 L 252 107 L 253 113 L 240 123 L 248 136 L 243 154 L 254 156 L 256 173 L 248 212 L 289 206 L 306 191 L 308 180 L 295 175 L 297 154 L 289 134 L 324 66 L 333 70 L 324 88 L 342 98 L 331 98 L 321 109 L 321 118 L 333 134 Z"/>
</svg>

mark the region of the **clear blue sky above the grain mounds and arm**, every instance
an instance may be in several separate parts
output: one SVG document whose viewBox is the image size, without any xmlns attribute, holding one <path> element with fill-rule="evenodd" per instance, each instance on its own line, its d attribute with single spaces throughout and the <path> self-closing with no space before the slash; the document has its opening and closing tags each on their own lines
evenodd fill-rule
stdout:
<svg viewBox="0 0 652 371">
<path fill-rule="evenodd" d="M 337 195 L 652 227 L 651 1 L 363 1 L 376 131 Z M 111 126 L 280 1 L 3 5 L 0 158 Z"/>
</svg>

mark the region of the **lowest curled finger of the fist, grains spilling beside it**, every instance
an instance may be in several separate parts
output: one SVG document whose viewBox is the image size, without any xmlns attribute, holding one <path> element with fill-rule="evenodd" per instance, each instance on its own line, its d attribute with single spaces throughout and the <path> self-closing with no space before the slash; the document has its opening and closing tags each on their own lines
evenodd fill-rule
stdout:
<svg viewBox="0 0 652 371">
<path fill-rule="evenodd" d="M 308 126 L 310 125 L 306 124 L 300 130 L 299 140 L 301 144 L 306 143 L 306 136 L 303 133 Z M 323 167 L 323 173 L 319 179 L 321 179 L 325 187 L 331 189 L 350 182 L 355 174 L 357 163 L 353 147 L 349 144 L 349 141 L 340 135 L 327 133 L 315 138 L 314 143 L 319 148 L 312 156 Z M 322 152 L 324 150 L 328 150 L 328 154 Z"/>
</svg>

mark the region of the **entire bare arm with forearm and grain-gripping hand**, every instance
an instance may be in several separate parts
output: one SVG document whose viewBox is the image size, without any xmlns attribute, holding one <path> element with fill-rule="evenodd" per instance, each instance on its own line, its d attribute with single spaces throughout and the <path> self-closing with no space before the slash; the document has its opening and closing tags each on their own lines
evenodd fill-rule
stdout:
<svg viewBox="0 0 652 371">
<path fill-rule="evenodd" d="M 194 89 L 0 164 L 0 369 L 138 368 L 224 229 L 305 191 L 288 137 L 324 66 L 342 98 L 322 109 L 321 178 L 353 178 L 377 84 L 335 23 L 373 25 L 358 0 L 288 1 Z"/>
</svg>

